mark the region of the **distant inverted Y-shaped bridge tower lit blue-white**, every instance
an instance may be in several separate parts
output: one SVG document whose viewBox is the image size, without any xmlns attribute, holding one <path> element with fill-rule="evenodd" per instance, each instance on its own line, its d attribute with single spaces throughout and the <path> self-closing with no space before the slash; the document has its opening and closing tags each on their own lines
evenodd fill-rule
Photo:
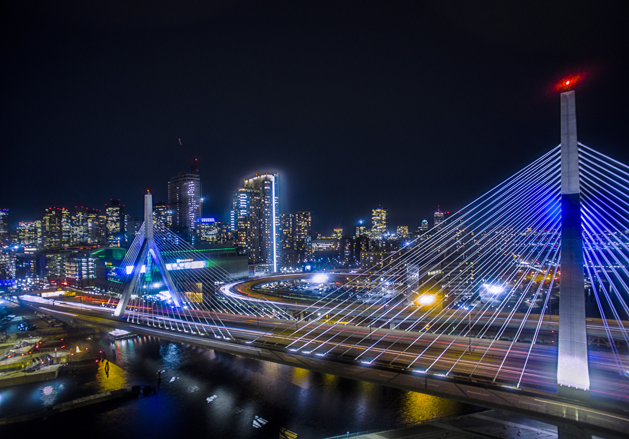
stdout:
<svg viewBox="0 0 629 439">
<path fill-rule="evenodd" d="M 135 236 L 135 240 L 133 245 L 140 244 L 140 251 L 138 252 L 138 257 L 133 261 L 132 269 L 131 269 L 131 279 L 126 282 L 125 289 L 123 289 L 122 296 L 120 297 L 120 301 L 118 301 L 118 306 L 116 306 L 116 311 L 114 311 L 114 316 L 121 317 L 125 314 L 126 305 L 129 303 L 129 299 L 131 298 L 131 294 L 133 294 L 133 290 L 135 289 L 136 284 L 138 283 L 138 279 L 140 274 L 142 274 L 142 267 L 146 267 L 146 262 L 148 257 L 150 257 L 157 270 L 159 270 L 162 275 L 162 279 L 164 279 L 164 284 L 166 288 L 170 292 L 170 297 L 177 308 L 181 307 L 181 297 L 179 297 L 179 292 L 175 289 L 175 284 L 170 277 L 168 270 L 166 269 L 166 264 L 164 264 L 164 258 L 162 258 L 162 253 L 160 253 L 159 248 L 155 245 L 155 239 L 153 236 L 153 196 L 150 192 L 144 196 L 144 227 L 143 233 L 138 233 Z M 139 241 L 139 242 L 138 242 Z"/>
</svg>

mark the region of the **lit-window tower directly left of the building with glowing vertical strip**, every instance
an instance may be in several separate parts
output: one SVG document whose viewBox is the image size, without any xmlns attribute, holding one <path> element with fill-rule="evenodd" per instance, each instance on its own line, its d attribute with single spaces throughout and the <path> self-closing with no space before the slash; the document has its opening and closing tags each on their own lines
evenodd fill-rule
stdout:
<svg viewBox="0 0 629 439">
<path fill-rule="evenodd" d="M 258 189 L 239 187 L 233 194 L 235 245 L 249 257 L 249 264 L 267 263 L 260 244 L 262 197 Z"/>
</svg>

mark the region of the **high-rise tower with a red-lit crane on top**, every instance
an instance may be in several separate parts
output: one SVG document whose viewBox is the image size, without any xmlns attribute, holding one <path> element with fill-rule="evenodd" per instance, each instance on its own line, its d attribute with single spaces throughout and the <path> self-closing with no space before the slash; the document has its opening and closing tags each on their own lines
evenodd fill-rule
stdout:
<svg viewBox="0 0 629 439">
<path fill-rule="evenodd" d="M 201 218 L 201 177 L 179 172 L 168 182 L 168 206 L 172 211 L 172 230 L 194 243 L 196 220 Z"/>
</svg>

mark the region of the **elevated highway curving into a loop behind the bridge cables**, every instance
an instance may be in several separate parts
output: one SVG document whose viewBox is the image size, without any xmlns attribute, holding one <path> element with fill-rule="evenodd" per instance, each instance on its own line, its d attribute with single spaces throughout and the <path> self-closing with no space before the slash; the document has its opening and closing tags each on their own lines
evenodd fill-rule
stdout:
<svg viewBox="0 0 629 439">
<path fill-rule="evenodd" d="M 345 276 L 345 274 L 341 275 Z M 301 303 L 298 303 L 297 301 L 287 301 L 286 299 L 274 297 L 270 294 L 264 294 L 263 292 L 255 291 L 253 289 L 253 287 L 262 283 L 300 279 L 304 277 L 311 277 L 311 275 L 272 275 L 269 277 L 250 279 L 247 281 L 233 282 L 232 284 L 226 284 L 225 286 L 221 287 L 221 292 L 241 301 L 255 301 L 258 303 L 274 304 L 275 306 L 280 306 L 282 309 L 286 309 L 287 311 L 294 311 L 295 313 L 338 313 L 341 320 L 350 320 L 351 318 L 355 318 L 357 316 L 364 316 L 365 308 L 367 306 L 366 304 L 360 304 L 358 306 L 348 306 L 347 304 L 342 304 L 338 306 L 338 303 L 331 303 L 329 305 L 326 305 L 325 303 L 316 303 L 316 301 L 308 301 L 304 299 L 301 299 L 299 301 Z M 313 304 L 315 303 L 316 308 L 313 308 Z M 337 309 L 332 310 L 335 304 L 337 305 Z M 343 308 L 346 307 L 347 309 L 343 310 Z M 372 309 L 374 308 L 375 307 L 373 307 Z M 409 318 L 409 315 L 413 312 L 415 312 L 415 314 L 413 314 Z M 403 323 L 404 329 L 406 329 L 409 325 L 413 325 L 416 330 L 419 330 L 420 328 L 425 328 L 426 325 L 430 325 L 428 329 L 433 328 L 435 331 L 445 330 L 445 327 L 443 325 L 456 326 L 459 323 L 463 323 L 465 328 L 467 328 L 468 321 L 471 320 L 472 322 L 474 322 L 474 324 L 472 325 L 472 334 L 476 333 L 477 331 L 481 331 L 482 328 L 487 324 L 499 328 L 500 326 L 503 326 L 505 322 L 506 325 L 504 326 L 507 329 L 518 330 L 521 326 L 522 320 L 525 318 L 525 314 L 523 313 L 515 313 L 513 315 L 513 318 L 509 319 L 509 313 L 499 313 L 497 316 L 493 316 L 493 311 L 487 311 L 486 313 L 484 313 L 484 315 L 482 311 L 472 311 L 470 319 L 467 311 L 459 311 L 456 309 L 436 310 L 431 311 L 430 313 L 425 313 L 424 311 L 416 311 L 415 308 L 404 310 L 403 307 L 387 307 L 386 311 L 379 311 L 377 313 L 374 313 L 374 311 L 370 310 L 370 313 L 374 314 L 370 318 L 374 320 L 374 326 L 397 326 L 403 323 L 404 319 L 409 318 Z M 360 324 L 361 322 L 363 322 L 362 325 L 365 325 L 366 323 L 364 322 L 370 319 L 354 319 L 352 323 Z M 539 314 L 529 314 L 528 318 L 526 318 L 523 329 L 528 331 L 535 331 L 539 320 Z M 607 325 L 608 329 L 606 328 L 605 324 Z M 629 327 L 629 321 L 623 321 L 623 325 L 623 328 Z M 461 328 L 462 326 L 459 326 L 458 331 L 460 331 Z M 608 339 L 611 335 L 616 343 L 620 342 L 621 345 L 623 343 L 626 343 L 626 331 L 624 331 L 621 326 L 618 325 L 618 322 L 616 320 L 603 321 L 603 319 L 586 318 L 586 330 L 587 335 L 590 337 L 600 337 L 603 339 Z M 609 334 L 607 332 L 608 330 L 610 331 Z M 559 316 L 544 317 L 540 325 L 540 331 L 541 333 L 545 333 L 545 336 L 548 336 L 552 333 L 557 333 L 557 331 L 559 331 Z M 490 330 L 488 331 L 487 336 L 491 335 L 493 335 L 493 332 Z M 509 333 L 505 334 L 505 336 L 509 336 Z M 526 336 L 527 334 L 523 333 L 522 337 Z M 554 338 L 556 338 L 556 336 Z"/>
</svg>

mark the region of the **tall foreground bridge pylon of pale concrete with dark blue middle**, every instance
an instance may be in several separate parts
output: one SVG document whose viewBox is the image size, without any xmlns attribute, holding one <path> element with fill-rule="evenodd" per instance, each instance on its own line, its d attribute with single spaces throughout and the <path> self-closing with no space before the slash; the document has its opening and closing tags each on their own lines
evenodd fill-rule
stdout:
<svg viewBox="0 0 629 439">
<path fill-rule="evenodd" d="M 561 94 L 561 277 L 557 394 L 589 397 L 579 148 L 574 91 Z"/>
</svg>

